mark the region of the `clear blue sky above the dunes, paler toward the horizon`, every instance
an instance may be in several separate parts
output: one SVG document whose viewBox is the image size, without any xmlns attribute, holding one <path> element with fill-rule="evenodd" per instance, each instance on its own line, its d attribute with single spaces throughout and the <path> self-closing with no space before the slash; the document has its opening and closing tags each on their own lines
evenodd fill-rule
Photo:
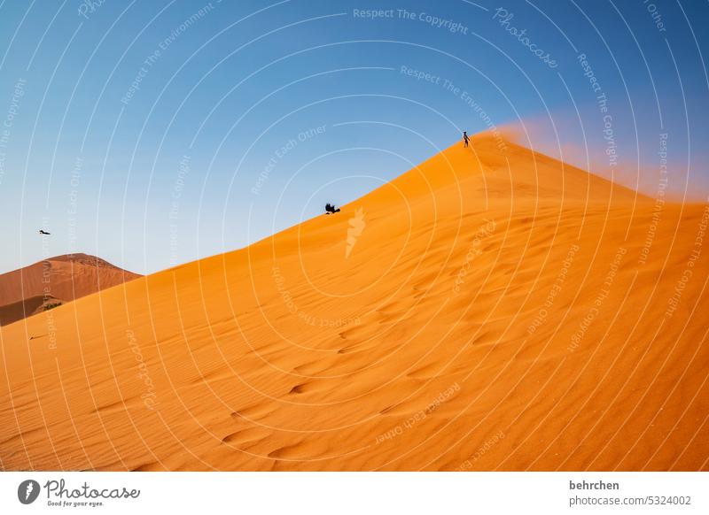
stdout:
<svg viewBox="0 0 709 515">
<path fill-rule="evenodd" d="M 238 249 L 493 125 L 650 194 L 666 147 L 669 188 L 705 199 L 707 22 L 661 0 L 0 1 L 0 272 Z"/>
</svg>

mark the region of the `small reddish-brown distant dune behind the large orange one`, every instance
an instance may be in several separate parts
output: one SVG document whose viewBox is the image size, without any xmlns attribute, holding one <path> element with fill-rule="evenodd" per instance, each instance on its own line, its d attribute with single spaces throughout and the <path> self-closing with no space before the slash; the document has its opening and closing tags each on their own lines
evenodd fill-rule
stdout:
<svg viewBox="0 0 709 515">
<path fill-rule="evenodd" d="M 103 259 L 72 254 L 0 275 L 0 325 L 140 277 Z"/>
</svg>

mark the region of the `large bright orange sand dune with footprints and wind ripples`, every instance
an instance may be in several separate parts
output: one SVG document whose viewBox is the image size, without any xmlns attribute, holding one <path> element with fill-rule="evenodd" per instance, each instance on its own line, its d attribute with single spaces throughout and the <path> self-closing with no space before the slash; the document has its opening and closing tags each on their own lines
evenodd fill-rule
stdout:
<svg viewBox="0 0 709 515">
<path fill-rule="evenodd" d="M 3 327 L 2 466 L 706 470 L 708 210 L 477 136 Z"/>
</svg>

